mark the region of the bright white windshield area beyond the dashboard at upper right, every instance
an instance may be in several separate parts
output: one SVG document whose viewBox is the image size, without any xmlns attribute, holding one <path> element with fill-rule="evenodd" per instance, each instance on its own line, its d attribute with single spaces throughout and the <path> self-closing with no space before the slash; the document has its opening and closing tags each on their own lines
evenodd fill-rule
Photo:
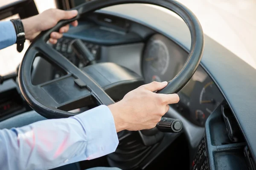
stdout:
<svg viewBox="0 0 256 170">
<path fill-rule="evenodd" d="M 256 68 L 256 0 L 178 0 L 204 33 Z"/>
</svg>

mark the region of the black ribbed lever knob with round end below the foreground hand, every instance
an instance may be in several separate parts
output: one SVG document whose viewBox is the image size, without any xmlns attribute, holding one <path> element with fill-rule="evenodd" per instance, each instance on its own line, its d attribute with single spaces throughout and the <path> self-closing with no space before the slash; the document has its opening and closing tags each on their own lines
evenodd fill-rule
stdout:
<svg viewBox="0 0 256 170">
<path fill-rule="evenodd" d="M 157 124 L 157 129 L 161 132 L 178 133 L 182 128 L 182 122 L 174 118 L 161 118 L 161 121 Z"/>
</svg>

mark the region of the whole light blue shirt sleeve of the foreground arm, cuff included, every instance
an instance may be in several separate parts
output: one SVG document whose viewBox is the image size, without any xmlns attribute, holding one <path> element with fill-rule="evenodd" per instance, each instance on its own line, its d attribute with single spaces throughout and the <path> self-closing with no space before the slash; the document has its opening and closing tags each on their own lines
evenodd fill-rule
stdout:
<svg viewBox="0 0 256 170">
<path fill-rule="evenodd" d="M 118 145 L 110 109 L 0 130 L 0 169 L 48 170 L 112 153 Z"/>
</svg>

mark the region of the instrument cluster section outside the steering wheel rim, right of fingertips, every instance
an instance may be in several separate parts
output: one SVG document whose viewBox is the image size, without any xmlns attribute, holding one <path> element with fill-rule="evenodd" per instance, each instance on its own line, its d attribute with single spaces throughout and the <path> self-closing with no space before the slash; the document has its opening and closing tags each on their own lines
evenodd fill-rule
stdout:
<svg viewBox="0 0 256 170">
<path fill-rule="evenodd" d="M 199 126 L 204 126 L 209 115 L 224 100 L 201 66 L 178 94 L 180 101 L 172 107 Z"/>
</svg>

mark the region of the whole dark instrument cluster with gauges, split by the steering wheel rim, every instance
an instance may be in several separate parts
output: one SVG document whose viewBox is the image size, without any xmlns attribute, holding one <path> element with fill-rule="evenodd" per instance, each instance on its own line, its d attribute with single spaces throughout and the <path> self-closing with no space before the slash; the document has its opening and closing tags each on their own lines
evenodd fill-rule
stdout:
<svg viewBox="0 0 256 170">
<path fill-rule="evenodd" d="M 172 80 L 182 69 L 187 56 L 187 52 L 167 37 L 153 35 L 143 55 L 145 83 Z M 199 126 L 204 126 L 209 115 L 224 100 L 218 87 L 201 66 L 198 66 L 193 77 L 178 94 L 179 103 L 171 107 Z"/>
</svg>

